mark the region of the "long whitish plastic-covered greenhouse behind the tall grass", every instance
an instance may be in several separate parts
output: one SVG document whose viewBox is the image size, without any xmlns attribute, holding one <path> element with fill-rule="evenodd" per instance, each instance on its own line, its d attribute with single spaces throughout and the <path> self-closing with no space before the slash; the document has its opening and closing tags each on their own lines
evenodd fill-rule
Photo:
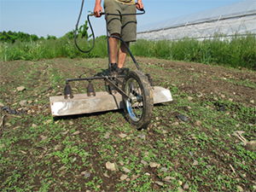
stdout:
<svg viewBox="0 0 256 192">
<path fill-rule="evenodd" d="M 232 37 L 248 33 L 256 34 L 256 2 L 251 0 L 137 28 L 137 38 L 152 40 L 185 37 L 205 39 L 213 38 L 215 34 Z"/>
</svg>

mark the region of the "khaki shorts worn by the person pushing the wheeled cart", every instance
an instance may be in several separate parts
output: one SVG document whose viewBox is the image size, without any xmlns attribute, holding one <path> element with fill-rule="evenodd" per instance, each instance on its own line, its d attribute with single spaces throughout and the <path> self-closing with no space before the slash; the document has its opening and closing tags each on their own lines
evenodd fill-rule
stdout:
<svg viewBox="0 0 256 192">
<path fill-rule="evenodd" d="M 136 41 L 137 35 L 137 19 L 136 15 L 121 15 L 119 14 L 136 14 L 135 4 L 118 3 L 115 0 L 104 1 L 105 13 L 117 14 L 106 15 L 108 22 L 108 32 L 110 35 L 118 33 L 120 38 L 125 42 Z"/>
</svg>

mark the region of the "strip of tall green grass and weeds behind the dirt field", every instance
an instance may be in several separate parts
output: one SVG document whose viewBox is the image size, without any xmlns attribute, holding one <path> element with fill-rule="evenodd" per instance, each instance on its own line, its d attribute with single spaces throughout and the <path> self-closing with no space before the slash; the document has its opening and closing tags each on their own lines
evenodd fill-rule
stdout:
<svg viewBox="0 0 256 192">
<path fill-rule="evenodd" d="M 88 50 L 92 45 L 86 38 L 78 38 L 81 49 Z M 138 40 L 131 44 L 133 55 L 154 57 L 170 61 L 189 61 L 203 64 L 226 67 L 245 67 L 256 70 L 256 37 L 247 34 L 246 37 L 236 35 L 224 38 L 216 35 L 211 40 L 198 41 L 183 38 L 178 41 Z M 106 37 L 96 38 L 96 46 L 89 54 L 79 52 L 73 39 L 49 38 L 38 41 L 21 42 L 14 44 L 0 43 L 1 61 L 37 61 L 40 59 L 66 58 L 104 58 L 108 56 Z"/>
</svg>

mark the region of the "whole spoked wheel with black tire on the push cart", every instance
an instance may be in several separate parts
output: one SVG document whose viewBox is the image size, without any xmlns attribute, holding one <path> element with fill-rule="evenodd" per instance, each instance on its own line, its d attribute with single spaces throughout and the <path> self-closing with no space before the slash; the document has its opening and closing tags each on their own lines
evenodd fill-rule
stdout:
<svg viewBox="0 0 256 192">
<path fill-rule="evenodd" d="M 153 115 L 153 93 L 148 78 L 140 71 L 126 74 L 122 89 L 131 97 L 123 97 L 126 118 L 137 129 L 146 127 Z"/>
</svg>

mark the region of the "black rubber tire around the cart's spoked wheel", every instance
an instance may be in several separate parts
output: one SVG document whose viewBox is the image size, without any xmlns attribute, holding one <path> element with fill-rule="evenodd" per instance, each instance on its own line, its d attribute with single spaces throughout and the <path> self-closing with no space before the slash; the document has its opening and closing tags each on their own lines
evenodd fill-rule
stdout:
<svg viewBox="0 0 256 192">
<path fill-rule="evenodd" d="M 140 103 L 143 103 L 143 114 L 138 119 L 132 118 L 128 110 L 129 106 L 127 108 L 126 102 L 128 101 L 125 100 L 125 98 L 123 97 L 124 110 L 125 110 L 126 118 L 130 122 L 130 124 L 135 126 L 137 129 L 141 129 L 141 128 L 147 127 L 147 125 L 150 123 L 153 116 L 153 108 L 154 108 L 153 92 L 148 82 L 148 78 L 142 72 L 129 71 L 129 73 L 125 75 L 125 79 L 123 81 L 123 86 L 122 86 L 122 90 L 124 90 L 128 96 L 130 94 L 129 82 L 131 82 L 132 79 L 135 82 L 137 82 L 135 84 L 137 84 L 141 90 L 140 94 L 142 95 L 143 101 Z M 128 104 L 129 103 L 131 102 L 128 102 Z"/>
</svg>

